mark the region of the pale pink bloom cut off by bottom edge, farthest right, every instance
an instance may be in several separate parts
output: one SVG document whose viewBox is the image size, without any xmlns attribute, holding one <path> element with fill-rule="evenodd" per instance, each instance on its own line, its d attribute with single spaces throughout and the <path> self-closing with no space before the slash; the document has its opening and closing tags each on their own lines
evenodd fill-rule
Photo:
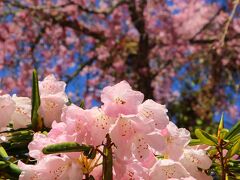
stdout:
<svg viewBox="0 0 240 180">
<path fill-rule="evenodd" d="M 150 170 L 151 180 L 180 179 L 189 176 L 190 174 L 179 162 L 168 159 L 159 160 Z"/>
</svg>

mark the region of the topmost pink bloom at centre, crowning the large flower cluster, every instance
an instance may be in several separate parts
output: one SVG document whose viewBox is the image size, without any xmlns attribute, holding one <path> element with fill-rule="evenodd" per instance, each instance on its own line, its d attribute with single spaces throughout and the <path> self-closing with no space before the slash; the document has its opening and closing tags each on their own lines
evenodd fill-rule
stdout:
<svg viewBox="0 0 240 180">
<path fill-rule="evenodd" d="M 121 81 L 114 86 L 105 87 L 101 94 L 103 111 L 112 117 L 119 114 L 136 114 L 138 105 L 143 101 L 144 95 L 132 90 L 126 81 Z"/>
</svg>

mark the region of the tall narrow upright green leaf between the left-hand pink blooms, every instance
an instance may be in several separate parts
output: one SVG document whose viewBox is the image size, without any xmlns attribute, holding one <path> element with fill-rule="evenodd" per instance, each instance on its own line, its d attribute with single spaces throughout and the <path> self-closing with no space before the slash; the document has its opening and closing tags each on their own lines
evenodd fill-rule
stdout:
<svg viewBox="0 0 240 180">
<path fill-rule="evenodd" d="M 34 69 L 32 74 L 32 112 L 31 121 L 33 130 L 39 131 L 43 127 L 42 118 L 38 115 L 38 109 L 40 107 L 40 94 L 38 86 L 38 75 L 37 71 Z"/>
</svg>

